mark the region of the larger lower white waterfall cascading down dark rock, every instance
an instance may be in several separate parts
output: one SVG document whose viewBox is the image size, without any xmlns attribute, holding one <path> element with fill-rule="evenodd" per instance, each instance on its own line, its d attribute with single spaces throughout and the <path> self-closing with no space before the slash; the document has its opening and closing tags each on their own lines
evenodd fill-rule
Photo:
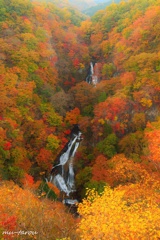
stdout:
<svg viewBox="0 0 160 240">
<path fill-rule="evenodd" d="M 67 196 L 75 191 L 73 160 L 81 140 L 82 133 L 78 125 L 75 125 L 71 132 L 71 139 L 57 158 L 57 164 L 53 166 L 49 178 L 49 182 Z M 66 199 L 66 202 L 73 204 L 76 200 Z"/>
</svg>

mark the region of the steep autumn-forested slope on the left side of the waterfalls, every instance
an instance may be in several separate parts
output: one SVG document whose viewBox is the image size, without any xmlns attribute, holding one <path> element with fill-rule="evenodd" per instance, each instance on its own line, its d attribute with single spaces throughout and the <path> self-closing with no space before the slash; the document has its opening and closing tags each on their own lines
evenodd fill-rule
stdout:
<svg viewBox="0 0 160 240">
<path fill-rule="evenodd" d="M 19 182 L 49 170 L 63 147 L 52 96 L 75 84 L 87 48 L 79 48 L 72 20 L 80 19 L 70 10 L 28 0 L 0 4 L 1 176 Z M 64 96 L 63 112 L 71 106 Z"/>
</svg>

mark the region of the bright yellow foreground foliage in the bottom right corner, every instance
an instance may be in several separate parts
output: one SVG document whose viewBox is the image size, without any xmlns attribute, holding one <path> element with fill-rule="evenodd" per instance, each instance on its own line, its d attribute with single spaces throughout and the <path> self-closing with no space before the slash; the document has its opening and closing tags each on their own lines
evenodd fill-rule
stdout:
<svg viewBox="0 0 160 240">
<path fill-rule="evenodd" d="M 140 188 L 139 188 L 140 187 Z M 81 215 L 78 234 L 83 240 L 147 240 L 160 238 L 160 208 L 152 189 L 146 196 L 134 197 L 134 191 L 145 185 L 110 189 L 102 195 L 89 191 L 78 206 Z M 147 192 L 148 188 L 145 190 Z M 128 195 L 130 192 L 130 195 Z M 138 194 L 138 192 L 137 192 Z"/>
</svg>

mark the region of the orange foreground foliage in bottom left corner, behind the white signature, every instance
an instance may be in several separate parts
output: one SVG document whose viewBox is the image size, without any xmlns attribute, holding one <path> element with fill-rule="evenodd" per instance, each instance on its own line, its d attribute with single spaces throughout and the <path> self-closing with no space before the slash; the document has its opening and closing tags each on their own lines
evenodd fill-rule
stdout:
<svg viewBox="0 0 160 240">
<path fill-rule="evenodd" d="M 22 189 L 12 182 L 1 183 L 0 212 L 0 239 L 4 237 L 3 230 L 36 232 L 26 235 L 27 239 L 45 240 L 53 236 L 54 239 L 69 236 L 74 239 L 76 236 L 75 220 L 65 212 L 62 203 L 39 200 L 29 189 Z M 18 237 L 16 233 L 11 235 L 14 239 Z"/>
</svg>

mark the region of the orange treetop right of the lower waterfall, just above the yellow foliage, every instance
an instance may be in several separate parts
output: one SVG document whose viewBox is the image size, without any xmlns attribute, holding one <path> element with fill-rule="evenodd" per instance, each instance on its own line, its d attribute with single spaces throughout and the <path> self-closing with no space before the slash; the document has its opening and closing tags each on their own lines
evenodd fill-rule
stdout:
<svg viewBox="0 0 160 240">
<path fill-rule="evenodd" d="M 147 176 L 146 170 L 139 163 L 127 159 L 123 154 L 107 160 L 104 156 L 97 157 L 92 169 L 93 180 L 105 181 L 110 186 L 136 183 Z"/>
</svg>

